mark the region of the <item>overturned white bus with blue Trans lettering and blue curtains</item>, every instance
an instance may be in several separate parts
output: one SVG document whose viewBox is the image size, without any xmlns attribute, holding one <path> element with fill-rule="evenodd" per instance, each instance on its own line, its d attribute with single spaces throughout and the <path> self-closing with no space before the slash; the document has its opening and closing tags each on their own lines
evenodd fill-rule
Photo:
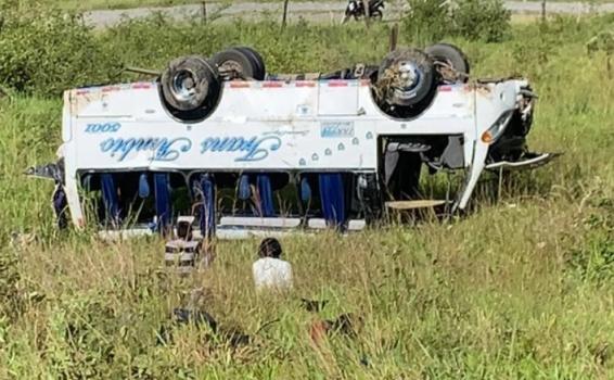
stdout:
<svg viewBox="0 0 614 380">
<path fill-rule="evenodd" d="M 361 228 L 387 201 L 421 197 L 421 168 L 465 179 L 536 166 L 526 149 L 526 80 L 469 80 L 457 48 L 396 50 L 380 65 L 270 75 L 250 48 L 172 61 L 151 83 L 64 94 L 54 178 L 61 226 L 164 230 L 195 215 L 203 236 L 253 229 Z"/>
</svg>

